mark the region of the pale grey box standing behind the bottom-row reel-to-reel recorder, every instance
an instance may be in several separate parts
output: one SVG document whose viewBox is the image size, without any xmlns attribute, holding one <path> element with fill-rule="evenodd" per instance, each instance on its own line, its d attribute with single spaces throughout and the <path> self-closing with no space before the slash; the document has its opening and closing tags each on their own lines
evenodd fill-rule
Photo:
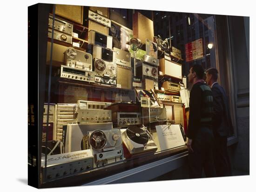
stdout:
<svg viewBox="0 0 256 192">
<path fill-rule="evenodd" d="M 63 126 L 63 143 L 65 153 L 89 149 L 88 132 L 96 129 L 109 130 L 113 128 L 112 122 L 87 123 L 87 124 L 67 124 Z"/>
</svg>

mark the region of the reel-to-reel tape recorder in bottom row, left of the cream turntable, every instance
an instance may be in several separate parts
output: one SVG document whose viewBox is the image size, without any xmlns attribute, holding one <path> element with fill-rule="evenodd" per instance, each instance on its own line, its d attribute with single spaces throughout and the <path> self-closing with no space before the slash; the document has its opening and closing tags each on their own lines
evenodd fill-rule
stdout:
<svg viewBox="0 0 256 192">
<path fill-rule="evenodd" d="M 94 155 L 94 167 L 124 159 L 120 129 L 94 130 L 88 133 L 88 138 Z"/>
</svg>

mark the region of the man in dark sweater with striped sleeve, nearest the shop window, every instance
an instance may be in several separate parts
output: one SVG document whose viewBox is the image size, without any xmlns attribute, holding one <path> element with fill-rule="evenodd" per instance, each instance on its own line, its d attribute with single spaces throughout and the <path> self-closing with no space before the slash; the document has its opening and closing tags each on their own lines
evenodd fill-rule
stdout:
<svg viewBox="0 0 256 192">
<path fill-rule="evenodd" d="M 203 80 L 204 70 L 195 64 L 189 70 L 189 83 L 193 84 L 189 98 L 189 177 L 215 176 L 213 163 L 212 91 Z"/>
</svg>

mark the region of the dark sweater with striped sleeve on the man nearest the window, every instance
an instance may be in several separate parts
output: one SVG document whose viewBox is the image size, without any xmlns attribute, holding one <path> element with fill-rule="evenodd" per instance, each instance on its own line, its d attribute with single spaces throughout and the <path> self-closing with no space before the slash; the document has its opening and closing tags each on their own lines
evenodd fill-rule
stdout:
<svg viewBox="0 0 256 192">
<path fill-rule="evenodd" d="M 213 97 L 209 86 L 202 82 L 195 83 L 189 98 L 189 139 L 194 139 L 199 128 L 212 128 L 212 106 Z"/>
</svg>

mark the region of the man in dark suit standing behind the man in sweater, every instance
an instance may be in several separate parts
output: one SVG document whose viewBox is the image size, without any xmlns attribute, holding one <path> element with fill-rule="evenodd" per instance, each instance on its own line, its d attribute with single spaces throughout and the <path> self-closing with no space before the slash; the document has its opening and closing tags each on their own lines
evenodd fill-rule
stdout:
<svg viewBox="0 0 256 192">
<path fill-rule="evenodd" d="M 218 70 L 206 70 L 206 83 L 213 95 L 213 134 L 214 134 L 214 165 L 216 176 L 230 176 L 231 168 L 227 148 L 227 136 L 232 128 L 228 100 L 225 90 L 217 83 Z"/>
</svg>

